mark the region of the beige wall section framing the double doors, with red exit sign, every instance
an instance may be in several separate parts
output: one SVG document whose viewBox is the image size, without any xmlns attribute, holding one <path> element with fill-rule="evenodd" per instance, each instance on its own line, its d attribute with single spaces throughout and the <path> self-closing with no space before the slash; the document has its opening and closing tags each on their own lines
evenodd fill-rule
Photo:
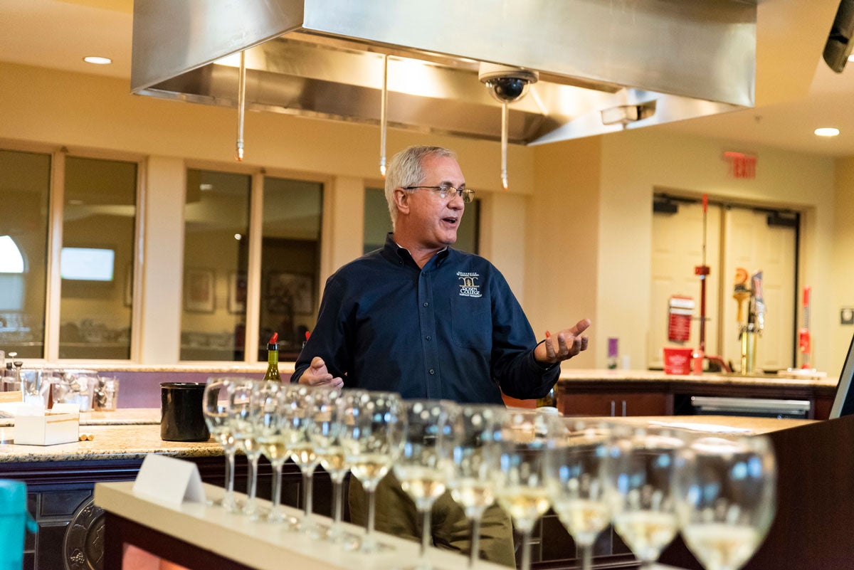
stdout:
<svg viewBox="0 0 854 570">
<path fill-rule="evenodd" d="M 722 160 L 724 150 L 756 153 L 756 177 L 732 177 L 728 162 Z M 816 293 L 814 360 L 831 374 L 839 371 L 838 354 L 828 346 L 832 334 L 828 285 L 834 221 L 833 160 L 774 148 L 745 149 L 650 128 L 605 137 L 601 172 L 597 364 L 605 364 L 604 337 L 611 331 L 619 333 L 614 335 L 620 337 L 621 352 L 628 351 L 635 366 L 643 363 L 646 343 L 664 344 L 663 340 L 648 338 L 645 326 L 649 322 L 652 194 L 658 188 L 756 205 L 790 206 L 806 214 L 799 254 L 802 282 L 812 285 Z M 700 259 L 697 262 L 699 265 Z M 697 287 L 699 296 L 699 281 Z"/>
</svg>

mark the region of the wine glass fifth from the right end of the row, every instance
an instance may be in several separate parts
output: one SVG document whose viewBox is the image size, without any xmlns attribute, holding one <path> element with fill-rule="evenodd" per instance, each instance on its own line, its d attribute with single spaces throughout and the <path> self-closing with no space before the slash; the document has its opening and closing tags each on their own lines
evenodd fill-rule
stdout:
<svg viewBox="0 0 854 570">
<path fill-rule="evenodd" d="M 453 468 L 447 487 L 471 524 L 470 568 L 480 555 L 483 511 L 495 502 L 492 477 L 498 469 L 498 440 L 505 414 L 506 409 L 500 405 L 464 405 L 450 422 Z"/>
</svg>

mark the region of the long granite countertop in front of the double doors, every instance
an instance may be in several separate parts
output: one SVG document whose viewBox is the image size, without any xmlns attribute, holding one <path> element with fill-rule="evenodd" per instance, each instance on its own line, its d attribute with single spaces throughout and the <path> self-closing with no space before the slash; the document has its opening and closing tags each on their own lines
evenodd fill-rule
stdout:
<svg viewBox="0 0 854 570">
<path fill-rule="evenodd" d="M 816 374 L 816 376 L 820 376 Z M 728 375 L 705 372 L 702 375 L 670 375 L 654 370 L 621 370 L 621 369 L 563 369 L 560 373 L 561 382 L 600 382 L 626 381 L 651 382 L 666 381 L 673 383 L 718 384 L 721 386 L 776 386 L 776 387 L 829 387 L 835 388 L 838 378 L 823 377 L 787 377 L 783 375 Z"/>
</svg>

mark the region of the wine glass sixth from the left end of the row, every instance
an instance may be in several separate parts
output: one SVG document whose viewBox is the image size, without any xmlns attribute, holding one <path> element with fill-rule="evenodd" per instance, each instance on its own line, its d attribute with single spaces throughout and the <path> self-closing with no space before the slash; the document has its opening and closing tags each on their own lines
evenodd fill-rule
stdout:
<svg viewBox="0 0 854 570">
<path fill-rule="evenodd" d="M 354 477 L 365 488 L 368 519 L 359 550 L 373 553 L 381 550 L 374 538 L 377 485 L 401 452 L 403 413 L 401 397 L 389 392 L 344 391 L 341 445 L 344 461 Z"/>
</svg>

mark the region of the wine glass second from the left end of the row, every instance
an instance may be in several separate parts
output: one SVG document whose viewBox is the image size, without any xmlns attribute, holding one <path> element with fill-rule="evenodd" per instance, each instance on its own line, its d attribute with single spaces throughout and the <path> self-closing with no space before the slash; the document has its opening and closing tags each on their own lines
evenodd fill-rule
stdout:
<svg viewBox="0 0 854 570">
<path fill-rule="evenodd" d="M 228 391 L 228 405 L 231 410 L 231 434 L 237 440 L 237 445 L 246 454 L 249 461 L 249 481 L 246 488 L 246 503 L 243 504 L 243 514 L 252 519 L 259 518 L 262 513 L 255 501 L 258 491 L 258 460 L 261 457 L 260 446 L 255 424 L 253 422 L 253 397 L 254 391 L 258 390 L 259 381 L 244 380 L 237 382 Z"/>
</svg>

